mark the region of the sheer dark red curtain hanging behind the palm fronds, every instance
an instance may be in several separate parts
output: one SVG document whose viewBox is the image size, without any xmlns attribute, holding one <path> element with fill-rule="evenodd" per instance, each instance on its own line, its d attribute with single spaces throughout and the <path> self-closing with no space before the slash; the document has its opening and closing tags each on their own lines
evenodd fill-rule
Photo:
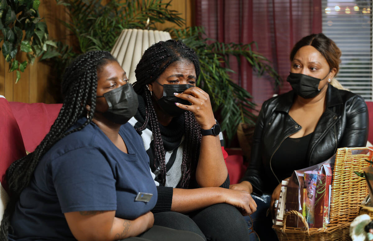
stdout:
<svg viewBox="0 0 373 241">
<path fill-rule="evenodd" d="M 242 59 L 231 58 L 232 78 L 253 95 L 259 106 L 275 92 L 291 90 L 286 82 L 292 46 L 302 37 L 322 32 L 321 0 L 196 0 L 196 25 L 220 42 L 248 44 L 272 62 L 283 79 L 278 91 L 269 76 L 258 77 Z M 253 46 L 253 50 L 256 49 Z"/>
</svg>

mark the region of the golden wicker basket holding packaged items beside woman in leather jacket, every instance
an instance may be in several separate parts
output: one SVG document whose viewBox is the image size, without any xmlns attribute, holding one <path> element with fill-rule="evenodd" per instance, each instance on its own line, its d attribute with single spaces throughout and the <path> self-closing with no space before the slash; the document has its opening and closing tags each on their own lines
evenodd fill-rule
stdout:
<svg viewBox="0 0 373 241">
<path fill-rule="evenodd" d="M 350 223 L 358 216 L 361 201 L 368 194 L 363 177 L 354 171 L 362 171 L 370 164 L 373 151 L 367 147 L 338 148 L 333 169 L 332 193 L 330 199 L 330 224 L 327 228 L 308 228 L 303 215 L 297 211 L 286 212 L 284 225 L 273 225 L 280 241 L 351 240 Z M 286 217 L 297 215 L 306 228 L 286 228 Z"/>
</svg>

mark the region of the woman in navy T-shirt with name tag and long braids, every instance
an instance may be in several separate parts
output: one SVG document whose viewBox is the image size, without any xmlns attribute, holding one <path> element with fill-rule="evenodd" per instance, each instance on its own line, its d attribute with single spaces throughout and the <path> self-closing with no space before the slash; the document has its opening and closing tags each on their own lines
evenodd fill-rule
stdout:
<svg viewBox="0 0 373 241">
<path fill-rule="evenodd" d="M 87 52 L 66 68 L 50 132 L 7 170 L 0 240 L 203 240 L 153 226 L 157 191 L 127 123 L 138 106 L 127 81 L 109 52 Z"/>
</svg>

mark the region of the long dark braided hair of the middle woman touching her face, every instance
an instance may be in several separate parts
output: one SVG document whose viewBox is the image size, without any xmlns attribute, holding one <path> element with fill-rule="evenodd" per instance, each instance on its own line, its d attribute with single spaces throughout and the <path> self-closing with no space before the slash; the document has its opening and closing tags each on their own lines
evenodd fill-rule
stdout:
<svg viewBox="0 0 373 241">
<path fill-rule="evenodd" d="M 194 64 L 195 73 L 200 74 L 200 64 L 195 51 L 186 46 L 181 41 L 168 40 L 160 41 L 150 46 L 142 55 L 138 63 L 135 74 L 137 81 L 134 83 L 134 90 L 141 95 L 145 102 L 145 122 L 137 129 L 142 131 L 150 122 L 150 127 L 154 138 L 154 168 L 159 166 L 160 180 L 164 185 L 166 183 L 166 159 L 163 147 L 161 132 L 157 114 L 154 110 L 152 97 L 146 85 L 153 83 L 159 78 L 166 68 L 176 61 L 187 60 Z M 191 176 L 195 174 L 197 161 L 200 154 L 201 145 L 201 127 L 195 120 L 194 114 L 190 111 L 184 113 L 185 120 L 185 138 L 183 148 L 183 159 L 181 164 L 181 187 L 189 186 Z"/>
</svg>

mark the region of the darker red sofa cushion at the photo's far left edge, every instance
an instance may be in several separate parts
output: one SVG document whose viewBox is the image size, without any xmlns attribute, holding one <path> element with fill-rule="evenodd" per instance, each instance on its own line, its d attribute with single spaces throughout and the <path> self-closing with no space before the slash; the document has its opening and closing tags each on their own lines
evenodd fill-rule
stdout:
<svg viewBox="0 0 373 241">
<path fill-rule="evenodd" d="M 15 160 L 26 155 L 21 131 L 12 113 L 9 102 L 0 97 L 0 178 L 5 190 L 8 190 L 5 171 Z"/>
</svg>

